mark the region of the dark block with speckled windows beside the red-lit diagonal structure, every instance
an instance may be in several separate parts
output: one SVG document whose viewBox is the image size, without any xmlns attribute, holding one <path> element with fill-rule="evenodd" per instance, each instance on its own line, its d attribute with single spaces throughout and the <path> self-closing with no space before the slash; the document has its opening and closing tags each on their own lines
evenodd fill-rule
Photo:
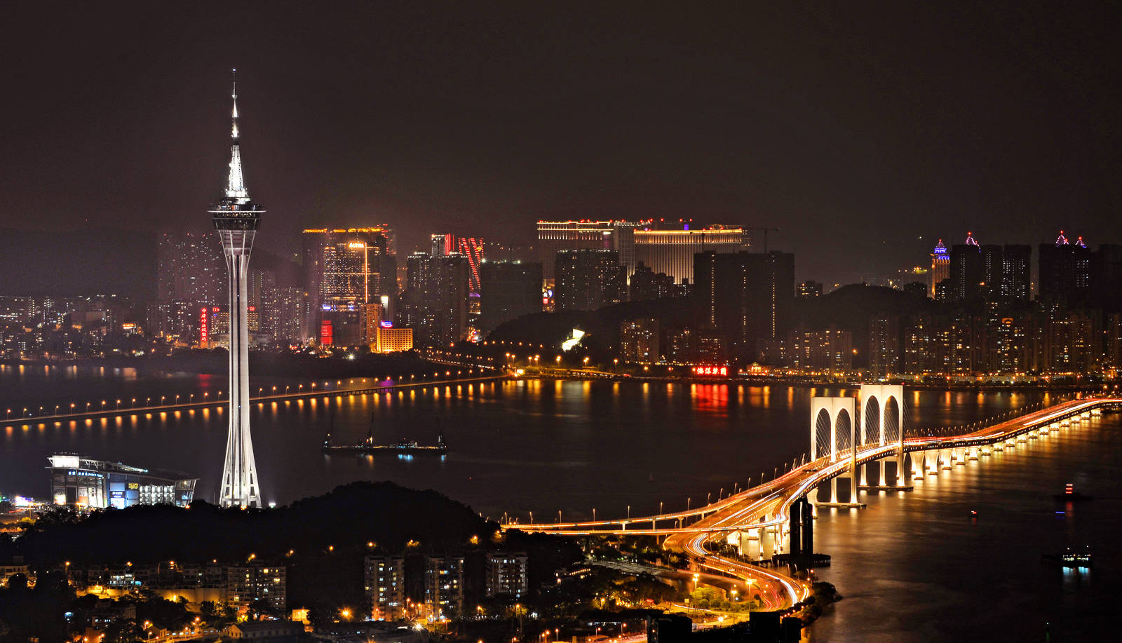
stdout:
<svg viewBox="0 0 1122 643">
<path fill-rule="evenodd" d="M 466 337 L 467 257 L 459 252 L 443 257 L 414 252 L 406 259 L 406 284 L 398 300 L 396 323 L 413 329 L 417 346 L 449 346 Z"/>
</svg>

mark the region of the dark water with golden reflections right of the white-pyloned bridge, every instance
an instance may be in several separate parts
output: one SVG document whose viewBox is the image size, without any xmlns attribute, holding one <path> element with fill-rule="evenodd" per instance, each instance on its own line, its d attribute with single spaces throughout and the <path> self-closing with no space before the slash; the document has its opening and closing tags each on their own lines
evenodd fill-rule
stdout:
<svg viewBox="0 0 1122 643">
<path fill-rule="evenodd" d="M 810 640 L 1045 641 L 1050 632 L 1050 641 L 1086 641 L 1114 632 L 1120 426 L 1120 415 L 1093 419 L 928 476 L 914 492 L 868 496 L 866 509 L 821 512 L 816 549 L 834 558 L 818 575 L 846 598 Z M 1095 499 L 1058 503 L 1066 483 Z M 1092 570 L 1041 561 L 1088 544 Z"/>
</svg>

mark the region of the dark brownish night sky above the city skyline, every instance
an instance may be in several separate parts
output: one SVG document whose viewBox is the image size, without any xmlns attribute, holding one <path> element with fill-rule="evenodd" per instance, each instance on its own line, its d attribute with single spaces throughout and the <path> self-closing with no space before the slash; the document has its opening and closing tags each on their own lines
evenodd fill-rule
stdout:
<svg viewBox="0 0 1122 643">
<path fill-rule="evenodd" d="M 1116 4 L 603 4 L 9 3 L 0 228 L 205 230 L 238 67 L 277 252 L 684 217 L 833 282 L 966 230 L 1122 242 Z"/>
</svg>

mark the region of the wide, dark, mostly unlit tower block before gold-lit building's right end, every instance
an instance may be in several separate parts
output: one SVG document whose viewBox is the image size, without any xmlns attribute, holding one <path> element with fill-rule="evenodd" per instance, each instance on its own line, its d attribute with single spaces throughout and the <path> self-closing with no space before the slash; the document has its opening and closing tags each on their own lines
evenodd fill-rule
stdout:
<svg viewBox="0 0 1122 643">
<path fill-rule="evenodd" d="M 760 340 L 785 337 L 794 301 L 794 255 L 701 252 L 695 256 L 695 297 L 702 322 L 715 328 L 739 360 L 754 360 Z"/>
</svg>

